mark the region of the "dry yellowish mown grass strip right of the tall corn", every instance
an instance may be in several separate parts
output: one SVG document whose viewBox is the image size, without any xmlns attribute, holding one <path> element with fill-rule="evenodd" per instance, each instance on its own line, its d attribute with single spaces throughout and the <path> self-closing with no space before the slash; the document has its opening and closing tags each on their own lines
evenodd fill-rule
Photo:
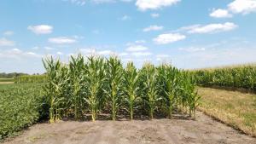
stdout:
<svg viewBox="0 0 256 144">
<path fill-rule="evenodd" d="M 256 136 L 256 95 L 211 88 L 198 88 L 198 93 L 202 112 Z"/>
</svg>

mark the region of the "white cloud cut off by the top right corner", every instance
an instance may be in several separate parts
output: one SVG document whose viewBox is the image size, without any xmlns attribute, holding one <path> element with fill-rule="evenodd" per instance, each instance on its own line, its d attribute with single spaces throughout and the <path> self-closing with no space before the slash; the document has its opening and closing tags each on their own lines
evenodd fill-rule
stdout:
<svg viewBox="0 0 256 144">
<path fill-rule="evenodd" d="M 249 14 L 256 11 L 256 1 L 235 0 L 228 5 L 228 9 L 235 14 Z"/>
</svg>

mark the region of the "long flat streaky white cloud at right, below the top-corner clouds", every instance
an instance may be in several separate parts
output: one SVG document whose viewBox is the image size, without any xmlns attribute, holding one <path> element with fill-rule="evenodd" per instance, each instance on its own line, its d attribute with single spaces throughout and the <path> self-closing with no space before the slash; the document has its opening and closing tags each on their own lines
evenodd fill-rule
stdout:
<svg viewBox="0 0 256 144">
<path fill-rule="evenodd" d="M 207 26 L 195 26 L 189 30 L 189 33 L 216 33 L 227 32 L 236 29 L 236 24 L 226 22 L 224 24 L 209 24 Z"/>
</svg>

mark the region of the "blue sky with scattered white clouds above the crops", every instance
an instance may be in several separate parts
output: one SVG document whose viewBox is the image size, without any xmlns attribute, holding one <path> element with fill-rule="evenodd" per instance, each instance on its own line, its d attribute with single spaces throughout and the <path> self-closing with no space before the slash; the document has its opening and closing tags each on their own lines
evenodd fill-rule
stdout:
<svg viewBox="0 0 256 144">
<path fill-rule="evenodd" d="M 118 55 L 183 69 L 256 62 L 256 0 L 1 0 L 0 72 L 52 55 Z"/>
</svg>

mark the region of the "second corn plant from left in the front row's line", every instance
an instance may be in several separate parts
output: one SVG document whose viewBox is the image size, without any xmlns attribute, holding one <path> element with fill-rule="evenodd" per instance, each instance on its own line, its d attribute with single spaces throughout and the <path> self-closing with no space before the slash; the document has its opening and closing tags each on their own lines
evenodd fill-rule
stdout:
<svg viewBox="0 0 256 144">
<path fill-rule="evenodd" d="M 78 55 L 71 56 L 69 62 L 69 76 L 72 89 L 72 107 L 74 109 L 75 119 L 82 117 L 83 109 L 83 82 L 84 82 L 84 57 Z"/>
</svg>

